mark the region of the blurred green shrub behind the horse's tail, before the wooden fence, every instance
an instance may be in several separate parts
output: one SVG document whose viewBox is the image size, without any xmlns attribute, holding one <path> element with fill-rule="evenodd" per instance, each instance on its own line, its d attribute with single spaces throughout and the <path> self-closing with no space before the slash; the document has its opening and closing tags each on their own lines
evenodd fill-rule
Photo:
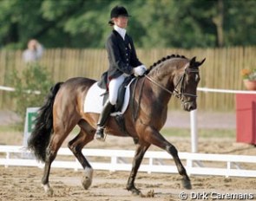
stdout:
<svg viewBox="0 0 256 201">
<path fill-rule="evenodd" d="M 16 113 L 25 120 L 27 107 L 41 107 L 49 88 L 53 85 L 49 73 L 38 63 L 31 63 L 28 68 L 23 70 L 22 75 L 17 71 L 11 75 L 10 80 L 13 82 L 16 90 L 11 93 L 16 100 Z M 21 127 L 24 122 L 21 122 Z"/>
</svg>

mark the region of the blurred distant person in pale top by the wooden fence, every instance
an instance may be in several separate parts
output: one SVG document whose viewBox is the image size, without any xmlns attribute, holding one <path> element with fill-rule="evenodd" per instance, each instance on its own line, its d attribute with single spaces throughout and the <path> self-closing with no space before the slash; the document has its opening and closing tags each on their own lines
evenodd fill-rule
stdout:
<svg viewBox="0 0 256 201">
<path fill-rule="evenodd" d="M 43 55 L 43 46 L 36 41 L 36 39 L 31 39 L 28 42 L 28 49 L 23 52 L 24 62 L 37 62 Z"/>
</svg>

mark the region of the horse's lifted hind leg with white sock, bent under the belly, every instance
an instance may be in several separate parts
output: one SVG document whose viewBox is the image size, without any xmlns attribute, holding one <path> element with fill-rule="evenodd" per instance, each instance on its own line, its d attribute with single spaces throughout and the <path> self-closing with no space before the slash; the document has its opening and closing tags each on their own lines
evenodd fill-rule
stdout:
<svg viewBox="0 0 256 201">
<path fill-rule="evenodd" d="M 82 155 L 82 147 L 94 139 L 95 128 L 89 126 L 84 120 L 81 120 L 78 125 L 81 127 L 81 131 L 75 139 L 69 141 L 69 149 L 74 153 L 76 159 L 78 159 L 82 165 L 85 172 L 82 177 L 82 186 L 87 190 L 92 183 L 93 169 L 88 160 Z"/>
</svg>

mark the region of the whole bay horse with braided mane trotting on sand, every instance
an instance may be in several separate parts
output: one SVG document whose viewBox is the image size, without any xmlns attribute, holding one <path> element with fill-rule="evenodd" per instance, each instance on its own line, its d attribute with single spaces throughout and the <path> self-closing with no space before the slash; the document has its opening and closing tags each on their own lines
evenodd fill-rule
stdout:
<svg viewBox="0 0 256 201">
<path fill-rule="evenodd" d="M 205 61 L 196 62 L 185 56 L 168 55 L 152 65 L 146 75 L 131 84 L 128 109 L 123 113 L 127 132 L 123 132 L 114 117 L 108 119 L 105 132 L 115 136 L 132 137 L 137 141 L 135 158 L 130 172 L 127 190 L 140 195 L 135 178 L 141 160 L 150 145 L 158 146 L 172 155 L 182 185 L 191 189 L 190 178 L 181 164 L 178 151 L 165 139 L 160 130 L 167 120 L 167 104 L 174 94 L 186 111 L 196 109 L 196 89 L 200 81 L 199 67 Z M 99 114 L 84 113 L 83 102 L 95 80 L 83 77 L 58 82 L 50 89 L 43 107 L 40 107 L 35 128 L 28 139 L 28 148 L 36 159 L 45 162 L 42 185 L 46 193 L 53 194 L 49 185 L 50 165 L 72 129 L 78 125 L 80 132 L 69 141 L 69 149 L 81 163 L 85 172 L 82 185 L 88 189 L 92 183 L 93 168 L 83 156 L 82 148 L 94 139 Z M 136 83 L 136 84 L 135 84 Z M 132 97 L 133 96 L 133 97 Z"/>
</svg>

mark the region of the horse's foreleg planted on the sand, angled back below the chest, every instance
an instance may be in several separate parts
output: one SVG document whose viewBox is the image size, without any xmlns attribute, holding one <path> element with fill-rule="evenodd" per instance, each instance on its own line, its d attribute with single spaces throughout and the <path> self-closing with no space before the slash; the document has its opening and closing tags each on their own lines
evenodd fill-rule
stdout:
<svg viewBox="0 0 256 201">
<path fill-rule="evenodd" d="M 136 152 L 135 152 L 135 158 L 133 161 L 133 168 L 132 171 L 130 173 L 130 176 L 128 178 L 128 184 L 127 184 L 127 190 L 128 191 L 132 191 L 133 194 L 135 195 L 141 195 L 141 191 L 138 190 L 135 187 L 135 178 L 138 172 L 138 169 L 141 165 L 141 161 L 144 157 L 145 152 L 148 150 L 149 144 L 147 144 L 147 146 L 145 145 L 138 145 Z"/>
</svg>

